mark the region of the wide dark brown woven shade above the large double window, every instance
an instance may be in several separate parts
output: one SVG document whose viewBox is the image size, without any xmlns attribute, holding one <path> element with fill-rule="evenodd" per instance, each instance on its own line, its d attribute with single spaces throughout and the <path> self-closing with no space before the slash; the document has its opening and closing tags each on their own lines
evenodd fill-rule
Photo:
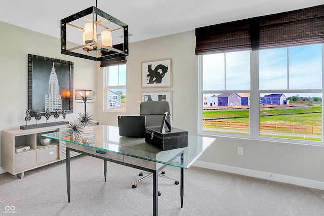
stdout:
<svg viewBox="0 0 324 216">
<path fill-rule="evenodd" d="M 324 5 L 196 28 L 196 55 L 324 42 Z"/>
</svg>

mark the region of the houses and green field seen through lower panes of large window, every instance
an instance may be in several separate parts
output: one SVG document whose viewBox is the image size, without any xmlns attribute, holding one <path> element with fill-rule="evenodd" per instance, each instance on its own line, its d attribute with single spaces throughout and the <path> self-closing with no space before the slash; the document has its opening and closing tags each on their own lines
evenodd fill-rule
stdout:
<svg viewBox="0 0 324 216">
<path fill-rule="evenodd" d="M 260 95 L 260 135 L 321 140 L 322 98 L 286 95 Z M 203 104 L 205 130 L 249 135 L 250 94 L 205 94 Z"/>
</svg>

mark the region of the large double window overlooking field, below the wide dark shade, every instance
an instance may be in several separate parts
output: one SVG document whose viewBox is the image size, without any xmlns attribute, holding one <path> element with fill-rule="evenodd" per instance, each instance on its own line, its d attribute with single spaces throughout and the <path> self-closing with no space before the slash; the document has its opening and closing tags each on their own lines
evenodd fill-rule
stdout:
<svg viewBox="0 0 324 216">
<path fill-rule="evenodd" d="M 322 44 L 202 55 L 198 61 L 199 96 L 217 101 L 200 108 L 199 133 L 322 141 Z"/>
</svg>

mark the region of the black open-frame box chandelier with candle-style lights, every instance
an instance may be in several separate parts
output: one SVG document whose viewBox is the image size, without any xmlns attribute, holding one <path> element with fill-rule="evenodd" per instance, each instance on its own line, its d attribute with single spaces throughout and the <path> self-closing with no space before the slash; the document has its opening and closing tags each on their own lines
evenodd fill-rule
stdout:
<svg viewBox="0 0 324 216">
<path fill-rule="evenodd" d="M 79 41 L 82 39 L 75 47 L 67 47 L 67 27 L 68 32 L 77 31 Z M 115 31 L 123 31 L 123 35 L 117 36 Z M 124 38 L 124 42 L 113 45 L 113 36 Z M 128 56 L 128 25 L 98 9 L 96 1 L 96 7 L 61 20 L 61 54 L 94 61 Z"/>
</svg>

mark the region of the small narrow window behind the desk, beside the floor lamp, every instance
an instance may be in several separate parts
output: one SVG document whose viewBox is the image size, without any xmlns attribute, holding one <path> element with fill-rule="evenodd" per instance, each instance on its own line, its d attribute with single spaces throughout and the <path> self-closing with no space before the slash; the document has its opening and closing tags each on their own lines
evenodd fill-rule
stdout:
<svg viewBox="0 0 324 216">
<path fill-rule="evenodd" d="M 126 111 L 126 64 L 105 67 L 104 111 Z"/>
</svg>

